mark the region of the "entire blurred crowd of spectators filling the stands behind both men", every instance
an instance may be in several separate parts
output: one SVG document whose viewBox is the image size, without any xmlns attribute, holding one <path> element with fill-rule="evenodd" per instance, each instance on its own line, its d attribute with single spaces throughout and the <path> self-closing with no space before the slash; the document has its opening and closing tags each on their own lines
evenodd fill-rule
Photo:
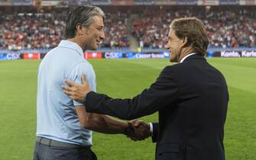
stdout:
<svg viewBox="0 0 256 160">
<path fill-rule="evenodd" d="M 65 12 L 65 11 L 63 11 Z M 65 13 L 1 14 L 0 49 L 53 48 L 63 40 Z M 256 46 L 256 11 L 170 10 L 143 13 L 106 13 L 105 40 L 101 47 L 129 47 L 130 37 L 139 46 L 164 48 L 171 20 L 196 17 L 203 20 L 210 47 Z M 129 19 L 131 18 L 131 19 Z M 128 27 L 130 29 L 128 30 Z"/>
</svg>

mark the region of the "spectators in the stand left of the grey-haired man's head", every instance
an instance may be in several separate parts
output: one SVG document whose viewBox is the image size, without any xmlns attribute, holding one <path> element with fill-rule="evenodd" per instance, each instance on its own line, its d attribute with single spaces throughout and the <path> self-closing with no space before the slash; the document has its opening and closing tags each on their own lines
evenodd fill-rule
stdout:
<svg viewBox="0 0 256 160">
<path fill-rule="evenodd" d="M 62 14 L 1 15 L 0 49 L 52 48 L 63 39 L 66 22 Z"/>
</svg>

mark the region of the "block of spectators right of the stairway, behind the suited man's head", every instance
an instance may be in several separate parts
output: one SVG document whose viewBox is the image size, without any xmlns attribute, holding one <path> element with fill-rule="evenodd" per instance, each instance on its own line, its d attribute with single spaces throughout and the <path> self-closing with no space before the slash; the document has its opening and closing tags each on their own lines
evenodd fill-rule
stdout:
<svg viewBox="0 0 256 160">
<path fill-rule="evenodd" d="M 133 21 L 132 35 L 141 47 L 163 48 L 171 20 L 196 17 L 203 20 L 209 47 L 256 46 L 256 11 L 145 11 Z"/>
</svg>

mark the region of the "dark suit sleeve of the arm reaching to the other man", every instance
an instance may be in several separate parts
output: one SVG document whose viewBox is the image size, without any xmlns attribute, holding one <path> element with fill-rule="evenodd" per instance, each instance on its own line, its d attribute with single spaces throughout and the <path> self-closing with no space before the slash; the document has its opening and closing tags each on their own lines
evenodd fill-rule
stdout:
<svg viewBox="0 0 256 160">
<path fill-rule="evenodd" d="M 178 94 L 177 75 L 172 66 L 167 66 L 160 73 L 150 88 L 144 89 L 134 98 L 109 98 L 105 94 L 89 92 L 86 95 L 86 111 L 107 114 L 122 120 L 133 120 L 154 114 L 163 107 L 171 107 Z"/>
</svg>

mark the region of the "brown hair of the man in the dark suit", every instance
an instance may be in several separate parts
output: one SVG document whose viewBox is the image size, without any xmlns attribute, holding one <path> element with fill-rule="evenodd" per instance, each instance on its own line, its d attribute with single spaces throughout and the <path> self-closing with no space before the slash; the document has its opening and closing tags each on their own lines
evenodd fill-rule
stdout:
<svg viewBox="0 0 256 160">
<path fill-rule="evenodd" d="M 172 21 L 170 29 L 180 39 L 187 37 L 187 45 L 192 46 L 196 53 L 206 55 L 209 40 L 203 21 L 197 18 L 179 18 Z"/>
</svg>

